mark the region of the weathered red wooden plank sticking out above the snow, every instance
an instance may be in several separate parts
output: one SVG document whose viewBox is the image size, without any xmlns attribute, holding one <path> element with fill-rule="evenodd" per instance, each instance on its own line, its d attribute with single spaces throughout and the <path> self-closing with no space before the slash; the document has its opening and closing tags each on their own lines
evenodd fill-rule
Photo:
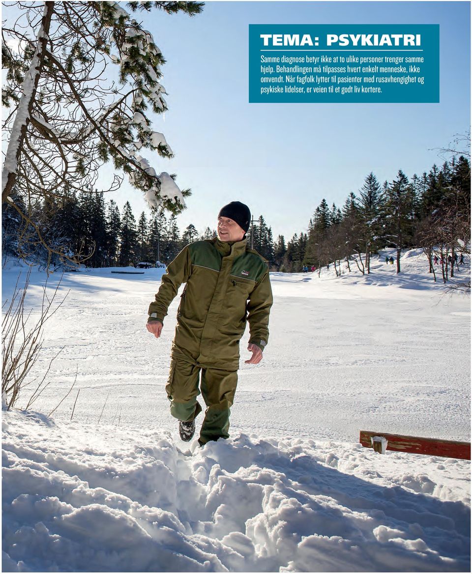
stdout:
<svg viewBox="0 0 472 574">
<path fill-rule="evenodd" d="M 372 437 L 384 437 L 388 440 L 388 451 L 411 452 L 417 455 L 446 456 L 451 459 L 470 460 L 470 443 L 458 440 L 427 439 L 419 436 L 390 435 L 384 432 L 361 430 L 359 443 L 363 447 L 374 448 Z M 376 450 L 378 444 L 376 444 Z"/>
</svg>

